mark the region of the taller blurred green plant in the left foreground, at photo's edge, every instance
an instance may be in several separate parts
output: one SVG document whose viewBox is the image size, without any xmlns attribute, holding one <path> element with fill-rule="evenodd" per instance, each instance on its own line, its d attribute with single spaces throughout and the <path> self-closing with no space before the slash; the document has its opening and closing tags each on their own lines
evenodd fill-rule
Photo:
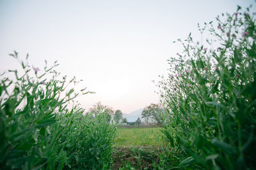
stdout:
<svg viewBox="0 0 256 170">
<path fill-rule="evenodd" d="M 18 57 L 17 52 L 11 55 Z M 63 157 L 63 153 L 57 152 L 58 148 L 54 147 L 61 129 L 51 132 L 48 138 L 45 138 L 45 134 L 49 126 L 56 123 L 54 111 L 62 111 L 61 106 L 69 101 L 72 93 L 60 97 L 64 87 L 58 85 L 63 82 L 55 80 L 58 73 L 51 72 L 57 66 L 56 62 L 50 68 L 45 66 L 45 73 L 40 75 L 38 68 L 24 62 L 21 62 L 21 65 L 23 75 L 20 76 L 17 70 L 9 70 L 10 73 L 14 73 L 13 80 L 3 78 L 0 82 L 1 168 L 55 167 L 57 163 L 53 158 Z M 35 73 L 34 78 L 29 76 L 31 69 Z M 47 73 L 52 74 L 52 79 L 46 83 Z"/>
</svg>

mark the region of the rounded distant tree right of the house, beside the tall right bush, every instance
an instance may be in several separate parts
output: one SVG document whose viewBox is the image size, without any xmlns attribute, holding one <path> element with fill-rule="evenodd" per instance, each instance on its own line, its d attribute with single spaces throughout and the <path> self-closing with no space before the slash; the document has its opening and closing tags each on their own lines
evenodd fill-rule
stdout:
<svg viewBox="0 0 256 170">
<path fill-rule="evenodd" d="M 150 104 L 144 108 L 141 115 L 142 118 L 145 118 L 146 120 L 152 118 L 156 120 L 158 125 L 161 125 L 164 122 L 164 113 L 164 108 L 162 108 L 159 104 Z"/>
</svg>

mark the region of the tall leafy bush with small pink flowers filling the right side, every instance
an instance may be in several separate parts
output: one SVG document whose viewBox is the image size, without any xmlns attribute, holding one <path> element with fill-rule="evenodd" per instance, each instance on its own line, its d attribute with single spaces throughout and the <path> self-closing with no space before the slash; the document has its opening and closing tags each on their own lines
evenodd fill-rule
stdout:
<svg viewBox="0 0 256 170">
<path fill-rule="evenodd" d="M 209 26 L 213 39 L 194 43 L 170 59 L 168 78 L 159 82 L 170 113 L 163 132 L 172 146 L 171 167 L 255 168 L 256 27 L 250 9 L 217 17 Z M 179 163 L 175 163 L 179 162 Z"/>
</svg>

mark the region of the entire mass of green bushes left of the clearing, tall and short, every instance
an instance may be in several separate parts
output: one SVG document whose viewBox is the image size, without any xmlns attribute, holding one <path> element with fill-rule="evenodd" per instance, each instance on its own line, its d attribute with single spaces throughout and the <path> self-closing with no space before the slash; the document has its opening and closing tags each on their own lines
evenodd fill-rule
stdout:
<svg viewBox="0 0 256 170">
<path fill-rule="evenodd" d="M 17 52 L 11 55 L 18 57 Z M 0 82 L 1 169 L 108 168 L 115 127 L 106 115 L 85 117 L 77 104 L 67 109 L 73 99 L 89 92 L 69 88 L 76 78 L 58 80 L 56 62 L 42 74 L 37 67 L 21 65 L 23 75 L 9 70 L 13 80 Z"/>
</svg>

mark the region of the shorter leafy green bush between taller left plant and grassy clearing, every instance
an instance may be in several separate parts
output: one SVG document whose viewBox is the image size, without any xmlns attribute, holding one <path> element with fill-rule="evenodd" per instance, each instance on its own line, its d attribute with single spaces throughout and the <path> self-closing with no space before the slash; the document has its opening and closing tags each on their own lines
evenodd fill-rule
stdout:
<svg viewBox="0 0 256 170">
<path fill-rule="evenodd" d="M 73 124 L 61 136 L 68 155 L 67 169 L 110 167 L 116 128 L 108 123 L 108 115 L 88 113 L 84 117 L 76 113 L 72 117 Z M 65 116 L 62 119 L 63 122 L 67 121 Z"/>
</svg>

